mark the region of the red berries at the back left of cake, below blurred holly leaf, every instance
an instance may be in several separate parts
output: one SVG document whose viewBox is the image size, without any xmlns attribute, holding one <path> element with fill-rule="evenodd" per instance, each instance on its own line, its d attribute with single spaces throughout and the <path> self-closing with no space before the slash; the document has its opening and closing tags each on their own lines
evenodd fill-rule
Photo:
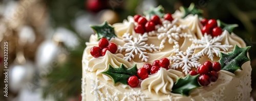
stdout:
<svg viewBox="0 0 256 101">
<path fill-rule="evenodd" d="M 164 19 L 173 21 L 173 17 L 169 13 L 164 15 Z M 162 24 L 160 18 L 157 15 L 153 15 L 150 21 L 147 21 L 147 19 L 141 15 L 135 15 L 134 21 L 138 23 L 138 25 L 134 27 L 135 32 L 141 34 L 144 32 L 153 31 L 155 30 L 156 25 Z"/>
</svg>

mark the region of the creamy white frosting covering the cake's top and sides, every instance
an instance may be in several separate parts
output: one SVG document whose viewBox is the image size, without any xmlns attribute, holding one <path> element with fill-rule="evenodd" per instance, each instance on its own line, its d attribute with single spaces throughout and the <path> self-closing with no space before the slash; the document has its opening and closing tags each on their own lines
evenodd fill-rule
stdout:
<svg viewBox="0 0 256 101">
<path fill-rule="evenodd" d="M 181 13 L 176 11 L 173 14 L 173 17 L 176 19 L 175 24 L 170 27 L 169 22 L 166 21 L 165 28 L 163 26 L 156 26 L 159 28 L 159 31 L 147 32 L 148 37 L 145 42 L 148 45 L 154 44 L 155 46 L 160 46 L 160 51 L 149 52 L 147 50 L 146 55 L 149 57 L 147 63 L 153 63 L 156 59 L 161 59 L 163 57 L 176 56 L 179 49 L 179 52 L 186 51 L 188 47 L 193 46 L 194 44 L 189 41 L 189 39 L 200 40 L 203 36 L 201 33 L 201 23 L 197 15 L 188 15 L 184 19 L 181 18 Z M 165 22 L 164 22 L 165 23 Z M 174 23 L 174 22 L 173 22 Z M 115 27 L 117 38 L 112 39 L 110 42 L 114 42 L 117 45 L 124 46 L 125 42 L 123 41 L 124 33 L 130 33 L 134 37 L 138 37 L 137 33 L 134 32 L 133 28 L 136 23 L 133 20 L 132 16 L 128 17 L 128 20 L 124 20 L 123 23 L 116 23 L 113 26 Z M 173 26 L 176 25 L 176 28 Z M 162 29 L 161 29 L 162 27 Z M 180 29 L 178 27 L 181 27 Z M 184 27 L 184 28 L 183 28 Z M 173 29 L 172 29 L 173 28 Z M 169 34 L 164 37 L 161 33 L 170 31 L 174 35 Z M 183 29 L 183 30 L 182 30 Z M 162 31 L 162 32 L 160 32 Z M 190 35 L 175 35 L 176 33 L 186 33 Z M 157 36 L 156 36 L 157 35 Z M 172 40 L 167 39 L 171 38 Z M 178 37 L 179 38 L 178 38 Z M 158 38 L 159 37 L 159 38 Z M 223 31 L 220 36 L 223 39 L 220 41 L 222 45 L 238 45 L 239 47 L 246 47 L 244 41 L 236 36 L 234 33 L 229 34 L 228 31 Z M 166 38 L 166 39 L 165 39 Z M 166 41 L 167 43 L 163 42 Z M 161 47 L 161 44 L 164 44 L 164 47 Z M 111 79 L 105 75 L 99 75 L 101 72 L 104 72 L 108 69 L 108 65 L 111 64 L 114 68 L 118 68 L 121 63 L 126 67 L 132 67 L 134 64 L 137 64 L 137 68 L 141 68 L 145 62 L 142 62 L 139 56 L 135 56 L 131 61 L 127 61 L 124 58 L 125 53 L 115 53 L 112 54 L 109 51 L 106 52 L 105 56 L 94 58 L 90 55 L 90 49 L 93 46 L 98 46 L 97 35 L 92 35 L 90 42 L 86 43 L 87 48 L 84 50 L 82 58 L 83 66 L 83 78 L 82 78 L 82 100 L 248 100 L 249 92 L 251 91 L 250 87 L 250 62 L 246 62 L 242 65 L 242 71 L 237 71 L 234 74 L 231 74 L 226 71 L 219 72 L 219 79 L 215 83 L 211 83 L 209 86 L 197 88 L 190 92 L 190 96 L 182 96 L 180 94 L 170 93 L 172 91 L 172 86 L 177 78 L 182 77 L 185 73 L 181 73 L 182 69 L 168 70 L 161 68 L 158 73 L 150 75 L 147 79 L 141 82 L 141 87 L 131 88 L 123 84 L 115 85 Z M 226 52 L 230 52 L 233 48 L 228 48 Z M 176 53 L 175 53 L 176 52 Z M 197 54 L 199 50 L 194 51 Z M 209 60 L 207 55 L 202 56 L 198 62 L 201 64 Z M 214 56 L 212 61 L 218 61 L 219 57 Z M 172 65 L 172 64 L 171 64 Z M 179 72 L 180 71 L 180 72 Z M 98 84 L 93 86 L 91 82 L 96 82 Z M 93 86 L 93 87 L 92 87 Z M 99 90 L 95 90 L 99 89 Z M 246 89 L 246 90 L 242 90 Z M 92 92 L 91 92 L 92 91 Z M 96 92 L 95 92 L 96 91 Z M 94 92 L 96 94 L 94 94 Z M 239 93 L 238 93 L 239 92 Z M 223 95 L 225 97 L 223 97 Z"/>
</svg>

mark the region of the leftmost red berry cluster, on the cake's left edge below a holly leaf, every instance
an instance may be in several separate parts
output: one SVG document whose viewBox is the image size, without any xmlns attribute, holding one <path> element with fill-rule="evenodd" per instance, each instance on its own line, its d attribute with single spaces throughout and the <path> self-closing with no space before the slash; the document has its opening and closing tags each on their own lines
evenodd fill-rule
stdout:
<svg viewBox="0 0 256 101">
<path fill-rule="evenodd" d="M 90 53 L 93 57 L 97 58 L 100 56 L 104 56 L 106 51 L 110 51 L 111 53 L 115 53 L 117 50 L 117 45 L 115 43 L 109 43 L 108 39 L 101 38 L 99 40 L 99 47 L 94 46 L 91 48 Z"/>
</svg>

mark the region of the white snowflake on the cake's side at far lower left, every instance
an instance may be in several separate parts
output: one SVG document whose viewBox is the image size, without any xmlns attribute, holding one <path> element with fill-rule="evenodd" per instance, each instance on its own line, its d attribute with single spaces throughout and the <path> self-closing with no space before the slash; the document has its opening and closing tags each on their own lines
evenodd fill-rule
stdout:
<svg viewBox="0 0 256 101">
<path fill-rule="evenodd" d="M 91 93 L 95 96 L 95 101 L 96 100 L 104 100 L 104 95 L 100 91 L 100 89 L 103 88 L 103 86 L 99 84 L 99 80 L 97 78 L 96 78 L 96 80 L 93 80 L 93 79 L 91 79 L 91 80 L 92 80 L 91 81 L 91 88 L 92 88 Z"/>
</svg>

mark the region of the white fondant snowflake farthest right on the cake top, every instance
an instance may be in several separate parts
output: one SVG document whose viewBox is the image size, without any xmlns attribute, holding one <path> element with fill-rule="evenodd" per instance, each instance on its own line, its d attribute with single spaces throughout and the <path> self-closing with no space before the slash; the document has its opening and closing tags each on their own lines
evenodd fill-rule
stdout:
<svg viewBox="0 0 256 101">
<path fill-rule="evenodd" d="M 189 39 L 192 41 L 192 43 L 196 44 L 196 46 L 193 46 L 195 49 L 201 49 L 199 54 L 208 55 L 208 58 L 213 60 L 214 59 L 214 54 L 216 56 L 220 57 L 221 50 L 222 51 L 227 51 L 229 48 L 232 47 L 232 45 L 222 45 L 223 37 L 218 36 L 212 38 L 210 35 L 204 35 L 204 37 L 201 38 L 201 40 L 198 39 Z"/>
</svg>

